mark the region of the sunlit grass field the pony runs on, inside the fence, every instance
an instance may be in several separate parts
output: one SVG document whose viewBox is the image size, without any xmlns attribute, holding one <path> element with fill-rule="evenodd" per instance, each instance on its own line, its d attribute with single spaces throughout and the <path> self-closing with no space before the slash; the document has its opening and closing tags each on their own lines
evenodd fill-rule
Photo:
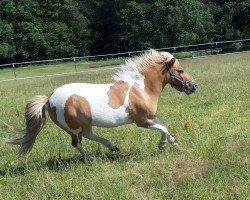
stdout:
<svg viewBox="0 0 250 200">
<path fill-rule="evenodd" d="M 25 157 L 0 144 L 0 199 L 250 199 L 250 53 L 183 60 L 198 83 L 190 96 L 169 86 L 158 117 L 182 150 L 160 152 L 158 132 L 95 128 L 120 152 L 84 140 L 84 162 L 51 120 Z M 28 69 L 28 68 L 27 68 Z M 4 70 L 0 71 L 0 77 Z M 24 127 L 26 101 L 70 82 L 107 83 L 113 70 L 0 83 L 0 119 Z M 12 137 L 0 125 L 0 137 Z"/>
</svg>

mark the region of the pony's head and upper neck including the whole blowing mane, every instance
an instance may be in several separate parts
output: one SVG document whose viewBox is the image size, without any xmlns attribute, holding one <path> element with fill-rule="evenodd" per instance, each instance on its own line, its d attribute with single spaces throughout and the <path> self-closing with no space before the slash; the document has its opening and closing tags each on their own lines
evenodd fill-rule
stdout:
<svg viewBox="0 0 250 200">
<path fill-rule="evenodd" d="M 180 63 L 168 52 L 147 51 L 140 56 L 126 60 L 113 76 L 115 81 L 129 80 L 143 83 L 159 95 L 166 84 L 180 92 L 191 94 L 196 90 L 196 83 L 184 72 Z M 132 82 L 133 82 L 132 81 Z M 130 81 L 131 82 L 131 81 Z"/>
</svg>

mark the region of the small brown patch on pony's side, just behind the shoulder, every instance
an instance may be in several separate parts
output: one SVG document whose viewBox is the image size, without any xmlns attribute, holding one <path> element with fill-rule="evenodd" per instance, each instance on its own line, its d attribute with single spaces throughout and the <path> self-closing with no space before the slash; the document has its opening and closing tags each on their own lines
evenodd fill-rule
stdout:
<svg viewBox="0 0 250 200">
<path fill-rule="evenodd" d="M 112 85 L 108 91 L 109 101 L 108 105 L 111 108 L 117 109 L 125 102 L 126 92 L 129 89 L 128 83 L 124 81 L 117 81 Z"/>
</svg>

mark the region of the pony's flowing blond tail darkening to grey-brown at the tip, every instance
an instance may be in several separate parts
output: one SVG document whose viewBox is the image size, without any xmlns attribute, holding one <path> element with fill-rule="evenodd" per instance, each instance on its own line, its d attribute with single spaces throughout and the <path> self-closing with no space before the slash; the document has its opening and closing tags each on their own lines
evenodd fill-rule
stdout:
<svg viewBox="0 0 250 200">
<path fill-rule="evenodd" d="M 24 155 L 32 149 L 36 137 L 46 121 L 45 105 L 48 100 L 47 96 L 35 96 L 30 99 L 25 107 L 26 129 L 22 131 L 24 136 L 5 141 L 7 144 L 20 145 L 19 155 Z"/>
</svg>

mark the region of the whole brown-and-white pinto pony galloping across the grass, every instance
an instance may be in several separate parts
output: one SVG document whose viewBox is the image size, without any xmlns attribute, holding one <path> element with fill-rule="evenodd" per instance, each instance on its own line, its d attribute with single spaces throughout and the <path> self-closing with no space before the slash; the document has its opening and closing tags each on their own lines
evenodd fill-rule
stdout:
<svg viewBox="0 0 250 200">
<path fill-rule="evenodd" d="M 92 126 L 135 123 L 161 132 L 160 149 L 166 141 L 178 144 L 156 117 L 158 99 L 166 84 L 186 94 L 196 90 L 196 83 L 178 60 L 168 52 L 151 50 L 128 59 L 113 78 L 111 84 L 71 83 L 57 88 L 50 97 L 33 97 L 25 109 L 24 136 L 6 142 L 20 145 L 19 154 L 29 152 L 45 123 L 47 110 L 52 121 L 70 134 L 72 145 L 81 155 L 85 155 L 82 137 L 99 142 L 111 151 L 119 150 L 111 141 L 95 135 Z"/>
</svg>

